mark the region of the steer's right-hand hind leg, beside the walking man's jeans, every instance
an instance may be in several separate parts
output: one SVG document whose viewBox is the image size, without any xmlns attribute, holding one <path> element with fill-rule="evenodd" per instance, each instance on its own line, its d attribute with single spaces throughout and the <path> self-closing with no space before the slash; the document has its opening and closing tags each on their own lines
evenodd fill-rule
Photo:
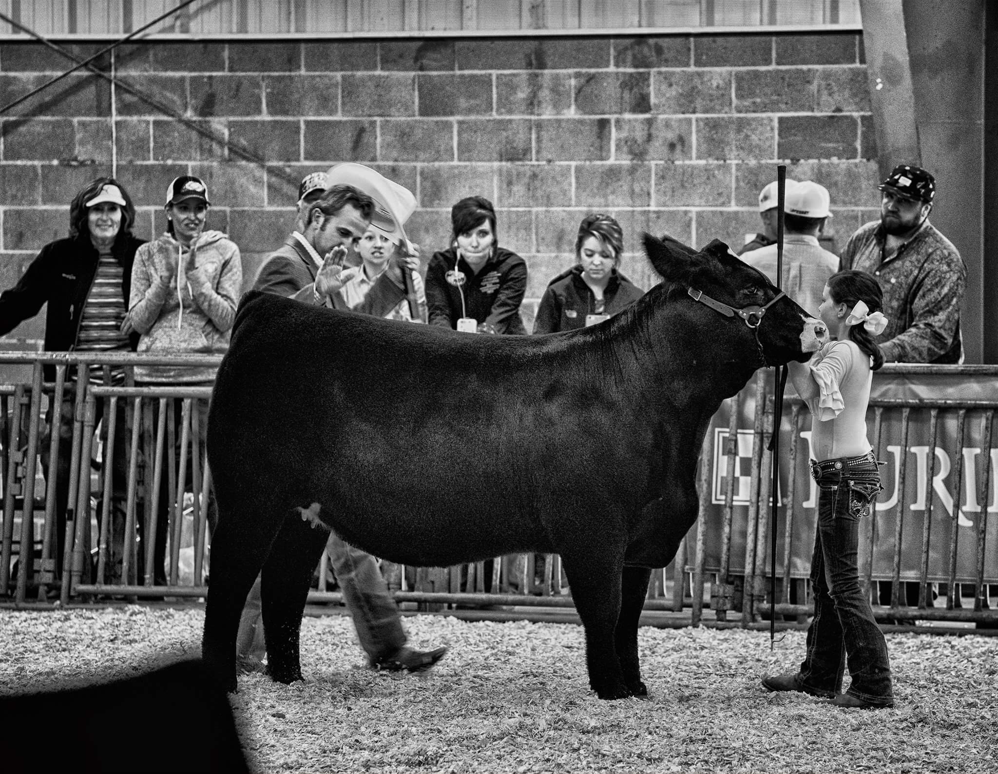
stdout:
<svg viewBox="0 0 998 774">
<path fill-rule="evenodd" d="M 267 672 L 277 682 L 301 679 L 298 639 L 308 587 L 329 537 L 297 513 L 280 526 L 263 565 L 260 601 L 266 638 Z"/>
</svg>

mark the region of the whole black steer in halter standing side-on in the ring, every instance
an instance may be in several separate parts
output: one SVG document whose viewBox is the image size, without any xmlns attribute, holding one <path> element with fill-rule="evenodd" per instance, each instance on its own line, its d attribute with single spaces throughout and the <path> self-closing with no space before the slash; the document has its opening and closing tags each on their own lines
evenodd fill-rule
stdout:
<svg viewBox="0 0 998 774">
<path fill-rule="evenodd" d="M 714 241 L 646 235 L 664 282 L 582 331 L 468 336 L 249 294 L 219 369 L 208 452 L 220 523 L 204 657 L 236 688 L 240 610 L 262 568 L 271 676 L 298 634 L 326 533 L 447 566 L 561 554 L 601 698 L 644 695 L 638 618 L 698 513 L 695 470 L 721 401 L 805 361 L 817 321 Z M 699 297 L 695 299 L 694 297 Z"/>
</svg>

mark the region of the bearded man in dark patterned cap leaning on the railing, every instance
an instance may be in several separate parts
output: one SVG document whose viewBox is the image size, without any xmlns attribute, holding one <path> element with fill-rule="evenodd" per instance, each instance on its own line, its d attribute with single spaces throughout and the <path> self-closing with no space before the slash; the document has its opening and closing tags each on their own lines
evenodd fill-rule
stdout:
<svg viewBox="0 0 998 774">
<path fill-rule="evenodd" d="M 889 321 L 877 344 L 888 363 L 962 363 L 960 307 L 967 267 L 953 243 L 929 223 L 935 179 L 899 164 L 877 188 L 880 220 L 845 245 L 841 269 L 876 278 Z"/>
</svg>

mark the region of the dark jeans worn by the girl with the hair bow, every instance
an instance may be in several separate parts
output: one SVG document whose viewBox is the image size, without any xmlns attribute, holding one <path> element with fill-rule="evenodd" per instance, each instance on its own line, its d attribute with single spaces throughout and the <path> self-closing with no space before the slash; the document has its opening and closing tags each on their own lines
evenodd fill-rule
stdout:
<svg viewBox="0 0 998 774">
<path fill-rule="evenodd" d="M 814 617 L 797 681 L 816 692 L 838 693 L 846 663 L 849 693 L 871 704 L 893 694 L 887 643 L 859 585 L 859 521 L 880 486 L 872 453 L 811 462 L 818 485 L 817 528 L 811 558 Z"/>
</svg>

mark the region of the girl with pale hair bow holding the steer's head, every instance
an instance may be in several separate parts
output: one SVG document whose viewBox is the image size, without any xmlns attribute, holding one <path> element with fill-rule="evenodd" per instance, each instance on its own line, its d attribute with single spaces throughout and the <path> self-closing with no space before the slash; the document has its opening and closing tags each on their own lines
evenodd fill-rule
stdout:
<svg viewBox="0 0 998 774">
<path fill-rule="evenodd" d="M 788 366 L 812 414 L 811 475 L 818 485 L 810 574 L 814 617 L 799 671 L 764 677 L 762 685 L 831 698 L 839 707 L 894 705 L 887 643 L 859 585 L 856 561 L 859 521 L 883 488 L 866 438 L 871 372 L 883 365 L 873 341 L 887 325 L 881 298 L 876 281 L 863 272 L 833 275 L 818 307 L 831 341 L 809 363 Z M 846 665 L 852 682 L 840 693 Z"/>
</svg>

